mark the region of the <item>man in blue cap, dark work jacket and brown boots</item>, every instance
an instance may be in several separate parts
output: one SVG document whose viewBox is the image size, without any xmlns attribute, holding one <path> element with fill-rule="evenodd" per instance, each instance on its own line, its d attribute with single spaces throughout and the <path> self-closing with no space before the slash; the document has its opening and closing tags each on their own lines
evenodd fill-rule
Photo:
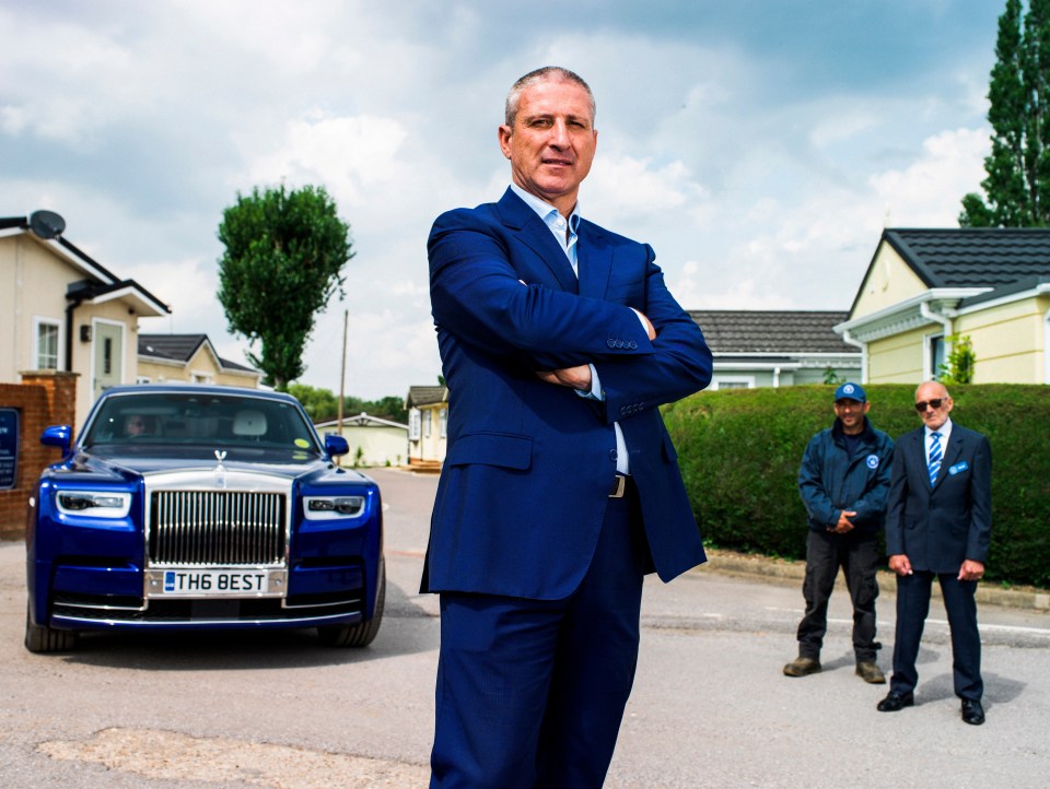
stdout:
<svg viewBox="0 0 1050 789">
<path fill-rule="evenodd" d="M 806 447 L 798 491 L 809 514 L 806 613 L 798 625 L 798 657 L 788 676 L 820 671 L 820 647 L 828 629 L 828 600 L 839 567 L 853 600 L 853 652 L 865 682 L 886 682 L 875 653 L 875 598 L 878 597 L 878 531 L 886 518 L 894 441 L 872 427 L 864 389 L 843 384 L 835 391 L 835 424 Z"/>
</svg>

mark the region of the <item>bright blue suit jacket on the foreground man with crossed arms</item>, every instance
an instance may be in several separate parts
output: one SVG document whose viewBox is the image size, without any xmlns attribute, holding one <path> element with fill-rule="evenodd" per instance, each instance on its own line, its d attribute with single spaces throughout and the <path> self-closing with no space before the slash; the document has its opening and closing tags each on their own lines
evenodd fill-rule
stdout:
<svg viewBox="0 0 1050 789">
<path fill-rule="evenodd" d="M 450 412 L 423 591 L 570 594 L 608 505 L 614 422 L 661 578 L 705 561 L 657 407 L 707 386 L 711 353 L 648 245 L 586 221 L 578 232 L 579 280 L 510 189 L 434 223 L 431 303 Z M 649 317 L 655 341 L 628 307 Z M 604 402 L 535 375 L 585 363 Z"/>
</svg>

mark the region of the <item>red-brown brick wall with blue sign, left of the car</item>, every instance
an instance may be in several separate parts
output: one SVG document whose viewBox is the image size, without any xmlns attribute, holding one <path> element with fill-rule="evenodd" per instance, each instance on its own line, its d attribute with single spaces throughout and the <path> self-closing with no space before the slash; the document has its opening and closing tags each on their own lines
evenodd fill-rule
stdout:
<svg viewBox="0 0 1050 789">
<path fill-rule="evenodd" d="M 38 370 L 21 373 L 22 384 L 0 384 L 0 408 L 19 412 L 19 459 L 14 488 L 0 491 L 0 539 L 25 534 L 25 506 L 40 471 L 61 459 L 55 447 L 40 444 L 48 425 L 71 425 L 77 408 L 77 374 Z"/>
</svg>

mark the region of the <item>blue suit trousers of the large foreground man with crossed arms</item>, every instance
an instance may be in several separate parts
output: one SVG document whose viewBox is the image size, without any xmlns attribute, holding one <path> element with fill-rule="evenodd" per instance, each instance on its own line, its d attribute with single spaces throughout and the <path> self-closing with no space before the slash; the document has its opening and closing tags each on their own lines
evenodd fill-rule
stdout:
<svg viewBox="0 0 1050 789">
<path fill-rule="evenodd" d="M 634 681 L 646 555 L 630 485 L 608 499 L 568 598 L 441 593 L 431 789 L 602 787 Z"/>
</svg>

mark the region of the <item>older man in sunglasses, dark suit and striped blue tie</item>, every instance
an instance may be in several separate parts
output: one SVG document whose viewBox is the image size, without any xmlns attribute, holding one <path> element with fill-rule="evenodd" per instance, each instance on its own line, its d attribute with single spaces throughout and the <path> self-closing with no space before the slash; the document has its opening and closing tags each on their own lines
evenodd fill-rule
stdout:
<svg viewBox="0 0 1050 789">
<path fill-rule="evenodd" d="M 897 637 L 882 713 L 914 704 L 915 659 L 936 577 L 952 628 L 955 694 L 962 720 L 984 722 L 977 582 L 992 531 L 992 450 L 988 438 L 952 422 L 955 403 L 937 381 L 915 391 L 923 427 L 897 440 L 889 483 L 886 551 L 897 574 Z"/>
</svg>

